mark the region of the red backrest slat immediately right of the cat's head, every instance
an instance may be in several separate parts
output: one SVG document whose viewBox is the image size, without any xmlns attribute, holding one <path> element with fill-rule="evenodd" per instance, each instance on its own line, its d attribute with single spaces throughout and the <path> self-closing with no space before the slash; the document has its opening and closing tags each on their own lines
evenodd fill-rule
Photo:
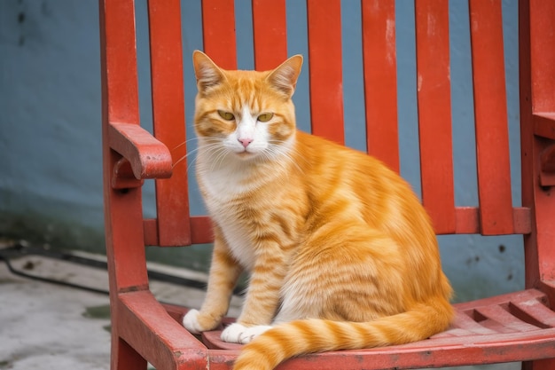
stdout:
<svg viewBox="0 0 555 370">
<path fill-rule="evenodd" d="M 308 0 L 312 133 L 344 143 L 340 0 Z"/>
</svg>

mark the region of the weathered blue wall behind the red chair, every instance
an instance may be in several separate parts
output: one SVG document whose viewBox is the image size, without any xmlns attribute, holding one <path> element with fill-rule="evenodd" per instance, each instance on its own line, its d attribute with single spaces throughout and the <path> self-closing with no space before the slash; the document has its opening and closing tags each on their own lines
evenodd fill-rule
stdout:
<svg viewBox="0 0 555 370">
<path fill-rule="evenodd" d="M 195 86 L 190 56 L 193 50 L 202 49 L 201 13 L 198 0 L 183 3 L 185 111 L 189 138 L 193 138 Z M 252 68 L 250 2 L 236 0 L 236 5 L 238 66 Z M 287 5 L 288 52 L 307 57 L 306 6 L 296 0 L 288 0 Z M 513 201 L 519 205 L 517 0 L 506 0 L 503 5 Z M 359 12 L 360 2 L 343 1 L 346 142 L 364 149 Z M 413 2 L 397 0 L 396 13 L 401 172 L 419 193 Z M 149 128 L 145 1 L 137 1 L 137 17 L 141 120 Z M 468 144 L 474 132 L 466 2 L 449 1 L 449 18 L 456 202 L 473 206 L 478 195 L 475 147 Z M 62 247 L 104 250 L 99 58 L 96 0 L 0 2 L 0 233 Z M 309 130 L 308 94 L 305 71 L 294 96 L 302 130 Z M 147 182 L 147 216 L 155 212 L 152 192 L 152 182 Z M 192 211 L 202 214 L 198 192 L 193 189 L 192 193 L 197 195 Z M 440 240 L 444 269 L 459 298 L 522 287 L 520 237 L 462 235 Z"/>
</svg>

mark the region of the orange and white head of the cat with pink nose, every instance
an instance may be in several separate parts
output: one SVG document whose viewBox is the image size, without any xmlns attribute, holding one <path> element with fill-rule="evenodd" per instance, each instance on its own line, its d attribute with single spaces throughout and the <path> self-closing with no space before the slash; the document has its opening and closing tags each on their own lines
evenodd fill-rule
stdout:
<svg viewBox="0 0 555 370">
<path fill-rule="evenodd" d="M 301 55 L 266 72 L 224 70 L 201 51 L 194 51 L 192 60 L 199 89 L 194 122 L 201 145 L 243 160 L 272 159 L 292 146 L 291 97 Z"/>
</svg>

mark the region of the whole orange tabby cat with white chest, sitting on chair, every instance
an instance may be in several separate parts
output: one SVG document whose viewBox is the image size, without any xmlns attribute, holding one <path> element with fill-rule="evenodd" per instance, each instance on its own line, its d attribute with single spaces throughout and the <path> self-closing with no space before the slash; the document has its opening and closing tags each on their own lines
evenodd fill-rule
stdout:
<svg viewBox="0 0 555 370">
<path fill-rule="evenodd" d="M 451 288 L 410 186 L 366 154 L 295 129 L 302 57 L 268 72 L 227 71 L 195 51 L 193 64 L 197 177 L 215 246 L 206 299 L 184 326 L 216 327 L 247 270 L 243 311 L 222 334 L 248 343 L 235 370 L 448 327 Z"/>
</svg>

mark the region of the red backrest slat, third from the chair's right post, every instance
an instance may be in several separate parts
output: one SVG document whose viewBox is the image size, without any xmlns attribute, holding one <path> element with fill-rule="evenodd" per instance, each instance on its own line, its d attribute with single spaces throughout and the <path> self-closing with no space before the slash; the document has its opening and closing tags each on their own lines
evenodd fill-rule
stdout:
<svg viewBox="0 0 555 370">
<path fill-rule="evenodd" d="M 368 154 L 399 172 L 395 2 L 362 3 Z"/>
</svg>

